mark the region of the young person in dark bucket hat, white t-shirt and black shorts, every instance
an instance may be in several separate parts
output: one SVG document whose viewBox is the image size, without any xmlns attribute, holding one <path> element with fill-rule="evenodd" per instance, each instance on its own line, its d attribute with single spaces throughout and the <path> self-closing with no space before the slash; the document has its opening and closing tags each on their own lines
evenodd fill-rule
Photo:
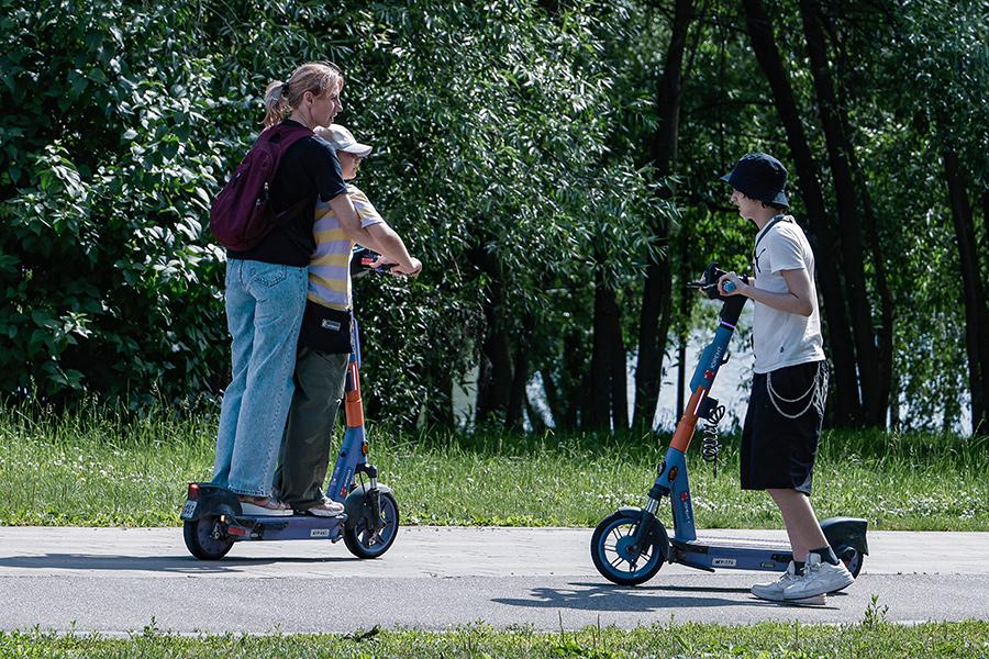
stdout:
<svg viewBox="0 0 989 659">
<path fill-rule="evenodd" d="M 847 588 L 854 578 L 824 538 L 810 503 L 814 458 L 824 416 L 827 368 L 814 288 L 814 254 L 791 215 L 787 170 L 762 153 L 747 154 L 722 180 L 738 214 L 758 228 L 752 278 L 727 272 L 722 295 L 746 295 L 753 315 L 752 394 L 742 429 L 742 488 L 766 490 L 782 514 L 793 561 L 752 593 L 799 601 Z M 734 284 L 732 292 L 724 284 Z"/>
</svg>

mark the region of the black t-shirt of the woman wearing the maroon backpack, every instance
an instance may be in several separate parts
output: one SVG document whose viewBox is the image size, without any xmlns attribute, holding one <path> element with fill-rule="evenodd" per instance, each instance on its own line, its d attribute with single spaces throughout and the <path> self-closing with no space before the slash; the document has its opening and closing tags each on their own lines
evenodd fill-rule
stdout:
<svg viewBox="0 0 989 659">
<path fill-rule="evenodd" d="M 289 119 L 289 125 L 301 125 Z M 281 156 L 275 180 L 271 182 L 271 208 L 278 213 L 308 199 L 298 214 L 274 228 L 252 249 L 226 250 L 227 258 L 243 258 L 303 267 L 315 250 L 312 225 L 315 220 L 315 201 L 330 201 L 347 191 L 336 159 L 336 152 L 325 141 L 312 135 L 303 137 Z"/>
</svg>

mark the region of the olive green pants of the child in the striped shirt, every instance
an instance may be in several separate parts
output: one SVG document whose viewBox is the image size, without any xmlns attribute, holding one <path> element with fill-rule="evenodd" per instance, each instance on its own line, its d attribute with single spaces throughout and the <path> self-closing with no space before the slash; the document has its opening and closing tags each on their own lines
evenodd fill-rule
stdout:
<svg viewBox="0 0 989 659">
<path fill-rule="evenodd" d="M 323 481 L 349 357 L 299 347 L 296 391 L 275 471 L 276 495 L 296 510 L 323 502 Z"/>
</svg>

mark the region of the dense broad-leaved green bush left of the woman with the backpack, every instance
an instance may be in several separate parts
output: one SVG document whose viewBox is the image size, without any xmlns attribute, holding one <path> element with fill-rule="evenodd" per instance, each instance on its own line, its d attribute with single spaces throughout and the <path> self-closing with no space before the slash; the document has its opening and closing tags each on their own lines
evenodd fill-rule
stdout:
<svg viewBox="0 0 989 659">
<path fill-rule="evenodd" d="M 188 9 L 4 2 L 0 391 L 148 403 L 214 389 L 220 165 Z M 81 7 L 80 7 L 81 4 Z M 10 10 L 10 11 L 7 11 Z"/>
</svg>

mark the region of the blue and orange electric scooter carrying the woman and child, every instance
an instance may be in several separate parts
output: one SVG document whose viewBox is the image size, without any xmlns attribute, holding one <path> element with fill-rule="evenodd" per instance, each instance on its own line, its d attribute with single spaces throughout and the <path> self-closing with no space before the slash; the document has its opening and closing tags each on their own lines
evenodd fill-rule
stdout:
<svg viewBox="0 0 989 659">
<path fill-rule="evenodd" d="M 371 266 L 377 255 L 355 252 L 352 272 Z M 386 271 L 388 266 L 376 268 Z M 357 558 L 377 558 L 395 543 L 399 509 L 387 485 L 378 483 L 378 469 L 367 461 L 368 443 L 360 399 L 360 344 L 357 321 L 351 327 L 351 353 L 344 386 L 346 432 L 326 496 L 343 503 L 336 517 L 246 515 L 237 494 L 212 483 L 189 483 L 182 506 L 182 536 L 189 551 L 201 560 L 219 560 L 234 543 L 255 540 L 330 540 L 341 538 Z M 367 482 L 364 481 L 367 477 Z M 357 479 L 360 479 L 358 484 Z"/>
</svg>

